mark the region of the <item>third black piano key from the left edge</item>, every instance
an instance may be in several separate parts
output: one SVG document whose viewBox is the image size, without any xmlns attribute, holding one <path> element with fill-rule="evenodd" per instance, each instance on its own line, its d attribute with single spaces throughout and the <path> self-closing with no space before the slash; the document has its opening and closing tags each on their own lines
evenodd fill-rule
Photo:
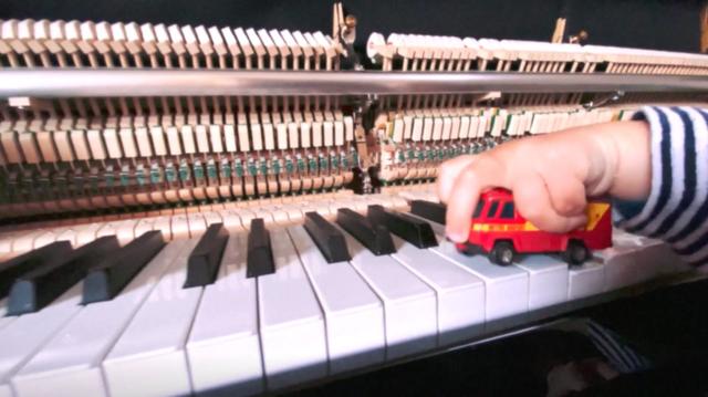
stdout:
<svg viewBox="0 0 708 397">
<path fill-rule="evenodd" d="M 163 233 L 152 230 L 88 270 L 83 304 L 112 300 L 165 247 Z"/>
</svg>

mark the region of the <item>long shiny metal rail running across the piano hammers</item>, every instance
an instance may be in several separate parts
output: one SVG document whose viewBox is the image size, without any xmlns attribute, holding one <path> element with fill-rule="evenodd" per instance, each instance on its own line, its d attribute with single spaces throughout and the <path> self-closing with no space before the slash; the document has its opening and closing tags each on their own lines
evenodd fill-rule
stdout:
<svg viewBox="0 0 708 397">
<path fill-rule="evenodd" d="M 708 76 L 212 70 L 0 70 L 0 97 L 704 92 Z"/>
</svg>

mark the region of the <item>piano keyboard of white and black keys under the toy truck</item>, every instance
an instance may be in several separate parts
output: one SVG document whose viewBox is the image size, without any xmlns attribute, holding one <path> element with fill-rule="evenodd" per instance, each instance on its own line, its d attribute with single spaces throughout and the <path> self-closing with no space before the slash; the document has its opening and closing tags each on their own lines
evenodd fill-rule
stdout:
<svg viewBox="0 0 708 397">
<path fill-rule="evenodd" d="M 0 396 L 281 390 L 491 335 L 683 270 L 665 244 L 621 231 L 581 267 L 550 255 L 497 267 L 457 252 L 426 206 L 415 213 L 385 207 L 367 208 L 371 216 L 337 208 L 289 224 L 251 218 L 247 229 L 217 222 L 167 243 L 156 231 L 122 248 L 115 236 L 74 250 L 60 241 L 15 257 L 13 267 L 0 265 L 0 286 L 9 285 L 0 289 Z M 408 221 L 392 233 L 376 211 Z M 420 230 L 431 232 L 429 247 L 408 241 Z M 393 247 L 376 252 L 378 241 Z M 64 259 L 58 264 L 48 250 Z M 22 288 L 86 255 L 95 261 L 73 285 Z M 263 261 L 273 272 L 254 274 Z M 12 302 L 32 294 L 53 300 L 12 315 Z"/>
</svg>

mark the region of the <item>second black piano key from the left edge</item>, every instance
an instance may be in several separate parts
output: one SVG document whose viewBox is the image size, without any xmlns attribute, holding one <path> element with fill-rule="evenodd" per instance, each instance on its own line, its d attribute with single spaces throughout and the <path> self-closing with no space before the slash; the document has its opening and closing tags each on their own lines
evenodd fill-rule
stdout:
<svg viewBox="0 0 708 397">
<path fill-rule="evenodd" d="M 85 244 L 70 255 L 18 278 L 10 289 L 8 314 L 19 315 L 35 312 L 76 284 L 86 271 L 121 249 L 115 236 L 102 237 Z"/>
</svg>

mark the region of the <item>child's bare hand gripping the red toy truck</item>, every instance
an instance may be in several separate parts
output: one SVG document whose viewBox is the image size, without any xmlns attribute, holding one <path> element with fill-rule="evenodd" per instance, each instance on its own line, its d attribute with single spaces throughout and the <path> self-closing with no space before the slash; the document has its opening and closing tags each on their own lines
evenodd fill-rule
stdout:
<svg viewBox="0 0 708 397">
<path fill-rule="evenodd" d="M 506 143 L 442 164 L 438 195 L 447 234 L 466 241 L 479 195 L 513 192 L 519 213 L 540 229 L 566 232 L 585 223 L 586 197 L 646 198 L 650 188 L 648 125 L 618 122 Z"/>
</svg>

